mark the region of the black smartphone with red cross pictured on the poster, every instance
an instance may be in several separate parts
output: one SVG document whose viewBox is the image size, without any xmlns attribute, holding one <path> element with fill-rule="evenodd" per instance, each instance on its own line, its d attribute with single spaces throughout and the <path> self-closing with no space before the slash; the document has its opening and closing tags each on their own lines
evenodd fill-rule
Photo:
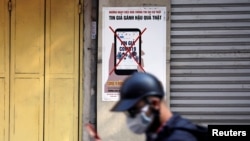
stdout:
<svg viewBox="0 0 250 141">
<path fill-rule="evenodd" d="M 114 35 L 114 67 L 117 75 L 130 75 L 141 65 L 141 31 L 118 28 Z"/>
</svg>

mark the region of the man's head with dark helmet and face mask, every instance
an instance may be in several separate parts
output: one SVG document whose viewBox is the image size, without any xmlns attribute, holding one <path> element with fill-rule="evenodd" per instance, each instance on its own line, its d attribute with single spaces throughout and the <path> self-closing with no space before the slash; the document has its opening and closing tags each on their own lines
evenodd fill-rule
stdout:
<svg viewBox="0 0 250 141">
<path fill-rule="evenodd" d="M 149 73 L 134 73 L 120 89 L 120 100 L 111 111 L 124 112 L 127 125 L 135 133 L 144 133 L 160 124 L 159 113 L 164 89 L 161 82 Z"/>
</svg>

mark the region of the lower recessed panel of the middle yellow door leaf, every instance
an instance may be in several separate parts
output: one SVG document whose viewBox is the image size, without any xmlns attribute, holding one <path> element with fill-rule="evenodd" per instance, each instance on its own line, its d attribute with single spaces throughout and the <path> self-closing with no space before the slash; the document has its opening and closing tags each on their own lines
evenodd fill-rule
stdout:
<svg viewBox="0 0 250 141">
<path fill-rule="evenodd" d="M 43 96 L 40 81 L 17 78 L 12 93 L 11 141 L 40 141 L 43 133 Z"/>
</svg>

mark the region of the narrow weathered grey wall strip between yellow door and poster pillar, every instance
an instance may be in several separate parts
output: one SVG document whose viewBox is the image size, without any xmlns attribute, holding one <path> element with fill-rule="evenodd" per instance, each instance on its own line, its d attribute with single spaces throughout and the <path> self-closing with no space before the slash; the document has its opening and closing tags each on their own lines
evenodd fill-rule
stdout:
<svg viewBox="0 0 250 141">
<path fill-rule="evenodd" d="M 92 38 L 93 22 L 97 21 L 98 0 L 83 1 L 83 105 L 81 140 L 91 141 L 84 125 L 96 124 L 96 73 L 97 73 L 97 36 Z M 97 24 L 96 24 L 97 25 Z"/>
</svg>

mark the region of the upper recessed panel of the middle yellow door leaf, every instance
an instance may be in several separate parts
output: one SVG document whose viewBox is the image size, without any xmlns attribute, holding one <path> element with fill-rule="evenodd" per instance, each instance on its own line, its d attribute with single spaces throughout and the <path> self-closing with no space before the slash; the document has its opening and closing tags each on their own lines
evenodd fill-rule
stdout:
<svg viewBox="0 0 250 141">
<path fill-rule="evenodd" d="M 44 0 L 19 0 L 13 5 L 15 73 L 41 73 L 44 64 Z"/>
</svg>

